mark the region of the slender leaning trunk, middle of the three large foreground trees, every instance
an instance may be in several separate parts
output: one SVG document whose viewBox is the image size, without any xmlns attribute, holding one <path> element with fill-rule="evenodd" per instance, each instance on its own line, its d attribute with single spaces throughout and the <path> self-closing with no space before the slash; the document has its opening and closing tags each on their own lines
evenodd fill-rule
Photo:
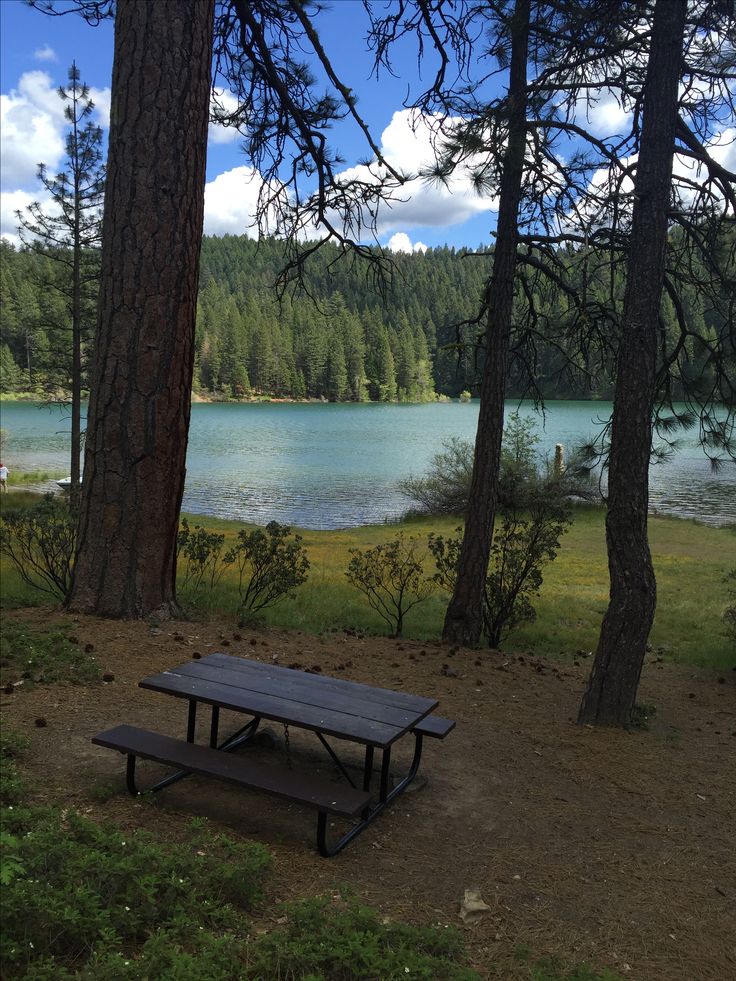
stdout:
<svg viewBox="0 0 736 981">
<path fill-rule="evenodd" d="M 473 475 L 457 582 L 442 632 L 442 639 L 448 643 L 466 646 L 478 643 L 483 627 L 483 590 L 498 501 L 504 397 L 519 237 L 517 221 L 527 132 L 529 6 L 529 0 L 517 0 L 511 24 L 509 135 L 501 175 L 493 270 L 488 287 L 486 352 Z"/>
</svg>

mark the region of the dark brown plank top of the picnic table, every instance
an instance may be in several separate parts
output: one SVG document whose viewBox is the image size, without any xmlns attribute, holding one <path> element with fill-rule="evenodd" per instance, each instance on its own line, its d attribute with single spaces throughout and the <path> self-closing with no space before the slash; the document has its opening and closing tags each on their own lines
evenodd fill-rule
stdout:
<svg viewBox="0 0 736 981">
<path fill-rule="evenodd" d="M 380 748 L 438 705 L 422 695 L 220 653 L 144 678 L 140 687 Z"/>
</svg>

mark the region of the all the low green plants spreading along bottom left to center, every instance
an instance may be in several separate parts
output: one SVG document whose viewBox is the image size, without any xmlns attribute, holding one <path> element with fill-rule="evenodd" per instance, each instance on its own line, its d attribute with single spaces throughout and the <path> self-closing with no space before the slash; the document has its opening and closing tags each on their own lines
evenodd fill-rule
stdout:
<svg viewBox="0 0 736 981">
<path fill-rule="evenodd" d="M 4 769 L 15 770 L 14 752 Z M 8 981 L 478 979 L 456 930 L 386 923 L 354 902 L 289 904 L 286 926 L 249 936 L 269 856 L 206 821 L 184 842 L 161 842 L 10 800 L 0 824 Z"/>
</svg>

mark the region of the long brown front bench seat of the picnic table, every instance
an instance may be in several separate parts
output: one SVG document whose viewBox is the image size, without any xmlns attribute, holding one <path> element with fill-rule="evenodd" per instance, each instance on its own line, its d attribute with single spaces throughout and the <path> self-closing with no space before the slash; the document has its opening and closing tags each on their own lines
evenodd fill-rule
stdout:
<svg viewBox="0 0 736 981">
<path fill-rule="evenodd" d="M 259 763 L 208 746 L 163 736 L 135 726 L 116 726 L 92 740 L 128 756 L 154 760 L 190 773 L 214 777 L 276 797 L 314 807 L 321 813 L 355 817 L 370 801 L 370 794 L 332 783 L 323 777 L 296 773 L 285 767 Z"/>
</svg>

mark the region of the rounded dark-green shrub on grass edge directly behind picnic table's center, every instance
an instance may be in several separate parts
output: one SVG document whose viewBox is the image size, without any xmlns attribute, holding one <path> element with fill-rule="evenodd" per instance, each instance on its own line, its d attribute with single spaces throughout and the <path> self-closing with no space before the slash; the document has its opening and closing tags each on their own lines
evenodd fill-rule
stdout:
<svg viewBox="0 0 736 981">
<path fill-rule="evenodd" d="M 270 521 L 265 529 L 240 531 L 232 550 L 238 569 L 241 625 L 286 596 L 307 580 L 309 559 L 301 535 L 288 525 Z"/>
</svg>

